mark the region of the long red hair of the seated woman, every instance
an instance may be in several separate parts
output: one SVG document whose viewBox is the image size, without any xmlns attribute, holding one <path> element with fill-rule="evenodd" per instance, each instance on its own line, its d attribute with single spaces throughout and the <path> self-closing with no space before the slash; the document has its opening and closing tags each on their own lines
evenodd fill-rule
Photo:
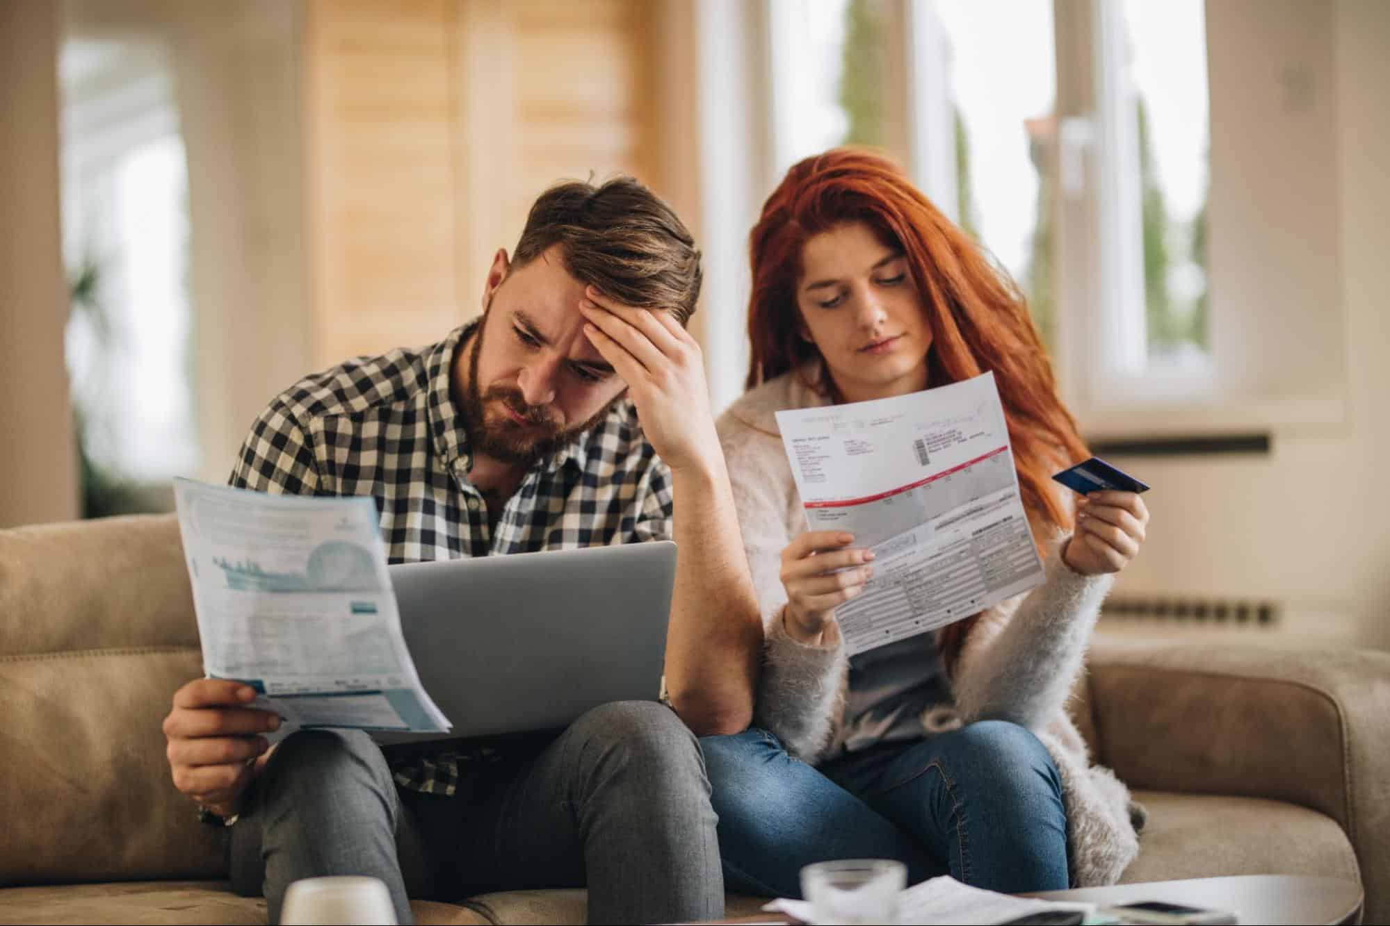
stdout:
<svg viewBox="0 0 1390 926">
<path fill-rule="evenodd" d="M 994 371 L 1029 519 L 1036 532 L 1072 529 L 1072 514 L 1049 487 L 1049 476 L 1088 454 L 1076 421 L 1058 398 L 1052 364 L 1029 317 L 1027 300 L 1009 275 L 881 154 L 847 147 L 809 157 L 787 172 L 763 204 L 749 235 L 753 285 L 746 386 L 819 357 L 816 346 L 798 333 L 802 249 L 816 235 L 849 222 L 863 222 L 908 260 L 931 326 L 927 385 L 944 386 Z M 1041 537 L 1036 540 L 1041 546 Z M 973 625 L 970 618 L 942 632 L 948 668 L 954 668 Z"/>
</svg>

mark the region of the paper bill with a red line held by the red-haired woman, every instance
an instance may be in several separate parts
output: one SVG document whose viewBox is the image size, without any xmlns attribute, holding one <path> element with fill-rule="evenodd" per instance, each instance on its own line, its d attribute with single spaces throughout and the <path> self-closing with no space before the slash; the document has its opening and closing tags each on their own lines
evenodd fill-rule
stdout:
<svg viewBox="0 0 1390 926">
<path fill-rule="evenodd" d="M 994 373 L 849 405 L 777 412 L 812 530 L 874 551 L 835 609 L 851 655 L 1042 582 Z"/>
</svg>

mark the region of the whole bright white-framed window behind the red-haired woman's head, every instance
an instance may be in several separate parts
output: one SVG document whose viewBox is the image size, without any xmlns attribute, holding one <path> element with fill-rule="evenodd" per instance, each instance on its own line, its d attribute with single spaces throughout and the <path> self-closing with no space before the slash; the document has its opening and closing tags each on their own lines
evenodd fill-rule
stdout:
<svg viewBox="0 0 1390 926">
<path fill-rule="evenodd" d="M 1213 394 L 1202 0 L 770 3 L 780 169 L 897 154 L 1017 282 L 1079 405 Z"/>
</svg>

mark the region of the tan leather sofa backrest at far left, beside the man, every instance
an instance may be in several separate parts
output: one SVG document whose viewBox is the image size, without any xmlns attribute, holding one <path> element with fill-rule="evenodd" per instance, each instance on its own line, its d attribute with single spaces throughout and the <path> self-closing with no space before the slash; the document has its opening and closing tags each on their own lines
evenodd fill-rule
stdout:
<svg viewBox="0 0 1390 926">
<path fill-rule="evenodd" d="M 0 884 L 225 877 L 164 757 L 202 673 L 171 515 L 0 530 Z"/>
</svg>

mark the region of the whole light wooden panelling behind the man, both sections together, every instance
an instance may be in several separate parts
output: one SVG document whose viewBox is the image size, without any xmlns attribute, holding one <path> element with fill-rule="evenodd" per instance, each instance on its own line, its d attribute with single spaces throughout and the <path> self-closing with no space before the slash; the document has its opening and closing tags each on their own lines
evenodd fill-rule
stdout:
<svg viewBox="0 0 1390 926">
<path fill-rule="evenodd" d="M 314 355 L 439 337 L 560 179 L 662 192 L 671 0 L 307 0 Z"/>
</svg>

